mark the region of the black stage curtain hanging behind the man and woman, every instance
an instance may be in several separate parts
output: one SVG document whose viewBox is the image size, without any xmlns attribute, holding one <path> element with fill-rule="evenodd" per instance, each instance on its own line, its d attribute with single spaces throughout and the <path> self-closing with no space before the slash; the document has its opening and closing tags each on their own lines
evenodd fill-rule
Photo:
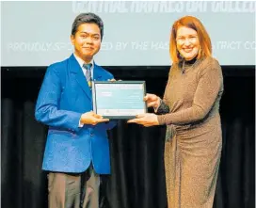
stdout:
<svg viewBox="0 0 256 208">
<path fill-rule="evenodd" d="M 145 80 L 147 91 L 163 95 L 166 68 L 109 68 L 116 78 Z M 2 68 L 1 205 L 47 208 L 46 172 L 41 170 L 47 128 L 34 119 L 45 68 Z M 220 114 L 223 151 L 215 208 L 255 207 L 254 66 L 224 67 Z M 145 128 L 120 120 L 109 132 L 110 176 L 104 176 L 102 208 L 166 208 L 165 126 Z"/>
</svg>

